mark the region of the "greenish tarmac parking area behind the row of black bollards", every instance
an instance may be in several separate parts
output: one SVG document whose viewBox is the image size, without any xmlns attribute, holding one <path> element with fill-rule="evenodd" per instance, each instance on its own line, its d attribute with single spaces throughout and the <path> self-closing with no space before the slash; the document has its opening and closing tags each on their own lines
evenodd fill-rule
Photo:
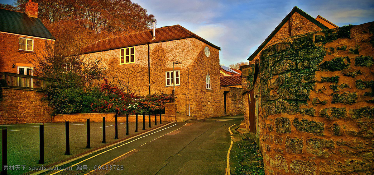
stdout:
<svg viewBox="0 0 374 175">
<path fill-rule="evenodd" d="M 163 122 L 162 125 L 165 125 Z M 160 126 L 151 122 L 151 128 L 148 128 L 148 122 L 145 122 L 145 129 L 142 130 L 142 122 L 138 123 L 138 132 L 135 132 L 135 122 L 129 123 L 129 135 L 126 134 L 126 122 L 119 122 L 118 137 L 114 139 L 114 122 L 105 122 L 106 143 L 114 143 L 124 138 L 132 137 L 140 132 L 147 132 Z M 90 123 L 91 149 L 87 149 L 87 125 L 86 122 L 70 122 L 70 155 L 65 155 L 65 123 L 45 123 L 44 141 L 45 141 L 45 163 L 38 164 L 39 161 L 39 124 L 12 124 L 0 125 L 0 128 L 7 128 L 7 154 L 8 165 L 15 166 L 13 171 L 8 174 L 22 174 L 29 172 L 40 166 L 48 166 L 65 159 L 71 159 L 79 154 L 97 150 L 107 144 L 102 143 L 102 122 Z M 2 143 L 0 136 L 0 144 Z M 0 152 L 1 155 L 1 152 Z M 1 164 L 0 159 L 0 165 Z M 18 169 L 16 168 L 18 167 Z M 0 168 L 1 171 L 1 168 Z"/>
</svg>

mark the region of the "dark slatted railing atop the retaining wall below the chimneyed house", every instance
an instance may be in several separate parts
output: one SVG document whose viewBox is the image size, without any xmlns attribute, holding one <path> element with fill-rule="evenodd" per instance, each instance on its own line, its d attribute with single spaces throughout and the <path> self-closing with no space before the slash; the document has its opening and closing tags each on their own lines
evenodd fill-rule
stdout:
<svg viewBox="0 0 374 175">
<path fill-rule="evenodd" d="M 31 90 L 41 90 L 47 87 L 47 83 L 52 81 L 50 78 L 41 76 L 14 74 L 9 72 L 0 72 L 0 83 L 2 87 L 24 88 Z M 4 84 L 5 82 L 5 84 Z"/>
</svg>

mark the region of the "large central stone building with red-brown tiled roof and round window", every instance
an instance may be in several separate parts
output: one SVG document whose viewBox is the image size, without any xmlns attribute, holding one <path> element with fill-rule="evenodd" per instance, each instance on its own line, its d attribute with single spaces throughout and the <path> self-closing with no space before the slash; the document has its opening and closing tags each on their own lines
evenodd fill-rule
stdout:
<svg viewBox="0 0 374 175">
<path fill-rule="evenodd" d="M 138 95 L 172 94 L 174 83 L 178 113 L 206 118 L 224 115 L 219 50 L 174 25 L 103 39 L 82 53 L 101 60 L 110 77 L 128 83 Z"/>
</svg>

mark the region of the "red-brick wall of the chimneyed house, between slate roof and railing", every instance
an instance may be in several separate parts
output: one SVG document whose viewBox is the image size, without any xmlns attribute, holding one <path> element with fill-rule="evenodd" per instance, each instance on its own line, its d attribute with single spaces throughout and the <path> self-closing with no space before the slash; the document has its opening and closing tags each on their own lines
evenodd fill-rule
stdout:
<svg viewBox="0 0 374 175">
<path fill-rule="evenodd" d="M 18 50 L 19 37 L 34 39 L 34 51 Z M 55 41 L 0 32 L 0 72 L 17 74 L 17 66 L 33 67 L 33 59 L 43 56 L 46 42 L 53 46 Z M 12 68 L 13 64 L 15 68 Z"/>
</svg>

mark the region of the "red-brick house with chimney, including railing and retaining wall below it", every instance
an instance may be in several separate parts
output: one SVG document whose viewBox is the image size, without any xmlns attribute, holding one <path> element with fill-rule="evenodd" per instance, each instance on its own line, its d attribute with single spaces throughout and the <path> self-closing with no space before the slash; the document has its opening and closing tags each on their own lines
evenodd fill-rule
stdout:
<svg viewBox="0 0 374 175">
<path fill-rule="evenodd" d="M 46 79 L 33 76 L 33 59 L 54 42 L 38 18 L 37 3 L 26 3 L 26 13 L 0 8 L 0 124 L 51 121 L 39 91 Z"/>
</svg>

